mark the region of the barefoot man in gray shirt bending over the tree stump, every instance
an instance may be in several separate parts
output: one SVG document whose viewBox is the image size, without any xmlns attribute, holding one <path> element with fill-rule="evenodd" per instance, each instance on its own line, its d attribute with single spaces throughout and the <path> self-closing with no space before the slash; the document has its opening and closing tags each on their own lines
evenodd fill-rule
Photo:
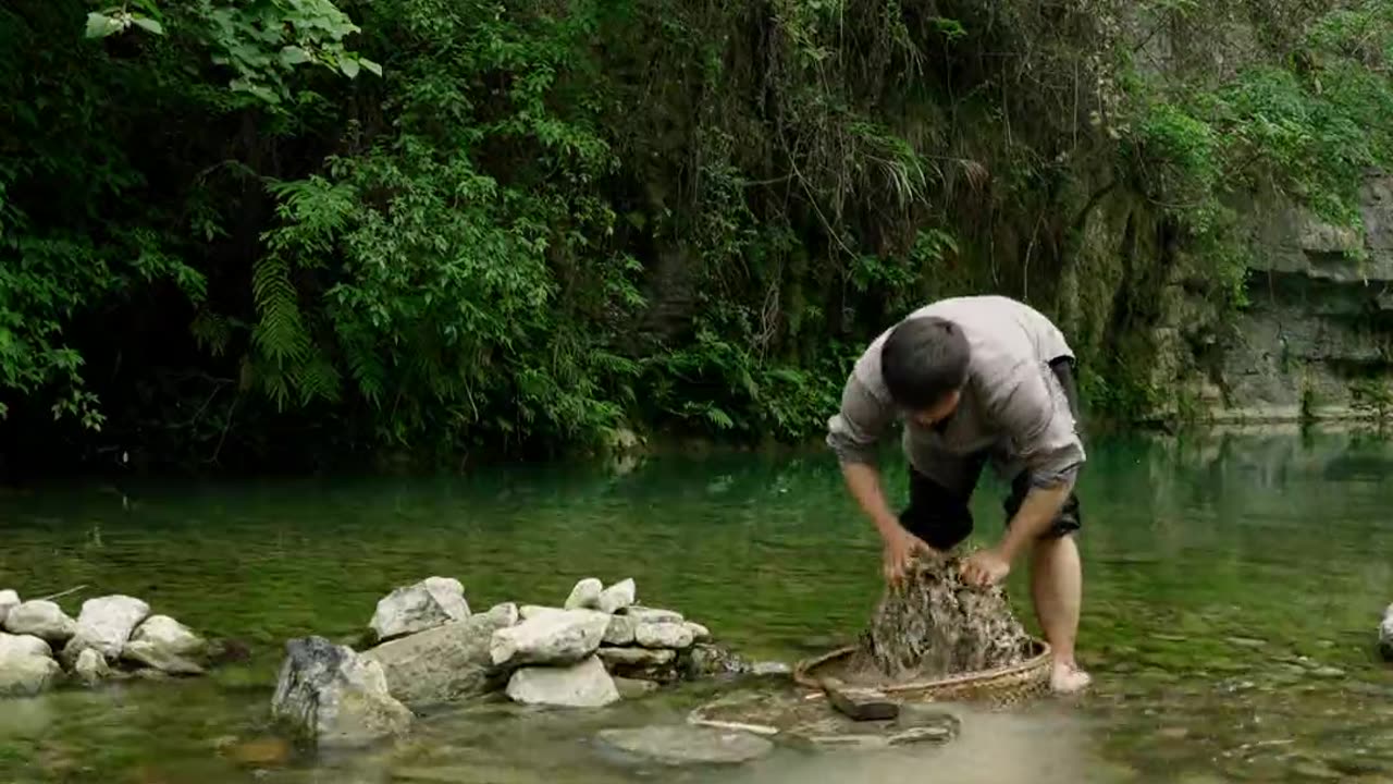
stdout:
<svg viewBox="0 0 1393 784">
<path fill-rule="evenodd" d="M 972 530 L 968 509 L 982 466 L 1010 480 L 1006 533 L 965 559 L 964 578 L 992 585 L 1031 551 L 1031 596 L 1055 654 L 1050 685 L 1089 684 L 1074 660 L 1082 569 L 1074 481 L 1084 445 L 1077 431 L 1074 353 L 1042 314 L 1007 297 L 929 304 L 882 333 L 857 361 L 827 423 L 847 488 L 885 543 L 885 576 L 903 578 L 917 552 L 942 552 Z M 876 445 L 904 420 L 910 504 L 890 511 Z"/>
</svg>

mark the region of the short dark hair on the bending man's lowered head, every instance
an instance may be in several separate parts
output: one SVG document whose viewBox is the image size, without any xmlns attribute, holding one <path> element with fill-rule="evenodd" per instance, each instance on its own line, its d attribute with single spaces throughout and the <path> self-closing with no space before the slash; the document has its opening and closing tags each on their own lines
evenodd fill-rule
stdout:
<svg viewBox="0 0 1393 784">
<path fill-rule="evenodd" d="M 880 347 L 880 377 L 896 405 L 928 409 L 967 382 L 968 346 L 950 321 L 901 321 Z"/>
</svg>

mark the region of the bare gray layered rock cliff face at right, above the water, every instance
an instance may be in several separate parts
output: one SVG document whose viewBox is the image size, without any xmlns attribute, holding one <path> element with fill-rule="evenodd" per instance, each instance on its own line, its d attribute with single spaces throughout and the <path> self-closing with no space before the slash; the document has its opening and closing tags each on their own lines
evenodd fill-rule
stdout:
<svg viewBox="0 0 1393 784">
<path fill-rule="evenodd" d="M 1224 329 L 1173 314 L 1190 342 L 1199 392 L 1217 420 L 1368 416 L 1393 377 L 1393 176 L 1371 174 L 1361 193 L 1362 233 L 1291 206 L 1254 206 L 1251 306 Z M 1378 391 L 1385 392 L 1378 392 Z"/>
</svg>

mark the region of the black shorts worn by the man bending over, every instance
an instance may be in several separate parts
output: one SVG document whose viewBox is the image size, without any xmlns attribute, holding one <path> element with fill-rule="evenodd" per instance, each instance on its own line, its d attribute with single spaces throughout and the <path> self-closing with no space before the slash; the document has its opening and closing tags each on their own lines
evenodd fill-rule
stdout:
<svg viewBox="0 0 1393 784">
<path fill-rule="evenodd" d="M 1067 360 L 1056 360 L 1055 363 L 1050 363 L 1050 367 L 1060 378 L 1060 384 L 1064 386 L 1064 395 L 1068 398 L 1070 407 L 1074 410 L 1074 416 L 1077 419 L 1078 399 L 1071 364 Z M 986 465 L 988 458 L 989 455 L 986 452 L 964 458 L 964 460 L 967 460 L 965 470 L 970 478 L 970 488 L 965 495 L 943 487 L 911 467 L 910 505 L 900 512 L 900 525 L 903 525 L 904 529 L 914 536 L 926 541 L 929 547 L 933 547 L 935 550 L 951 550 L 953 547 L 961 544 L 963 540 L 972 533 L 972 511 L 970 509 L 970 504 L 972 501 L 971 487 L 975 485 L 976 477 L 982 473 L 982 466 Z M 1011 491 L 1002 504 L 1002 508 L 1006 512 L 1007 523 L 1010 523 L 1011 518 L 1015 516 L 1015 512 L 1020 511 L 1029 488 L 1031 478 L 1027 472 L 1018 473 L 1011 480 Z M 1077 532 L 1081 526 L 1082 512 L 1078 506 L 1078 495 L 1070 492 L 1068 498 L 1064 501 L 1064 506 L 1055 518 L 1055 523 L 1041 536 L 1041 538 L 1068 536 Z"/>
</svg>

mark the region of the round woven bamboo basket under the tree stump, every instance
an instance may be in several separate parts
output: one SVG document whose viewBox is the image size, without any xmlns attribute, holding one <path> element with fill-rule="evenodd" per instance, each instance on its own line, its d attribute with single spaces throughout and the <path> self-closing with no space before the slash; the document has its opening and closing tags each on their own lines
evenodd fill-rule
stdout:
<svg viewBox="0 0 1393 784">
<path fill-rule="evenodd" d="M 936 681 L 911 681 L 876 686 L 886 696 L 905 702 L 982 702 L 990 706 L 1007 706 L 1036 696 L 1049 688 L 1050 649 L 1042 639 L 1031 638 L 1031 656 L 1020 664 L 965 672 Z M 822 679 L 834 677 L 855 647 L 843 647 L 815 658 L 800 661 L 794 667 L 794 681 L 808 689 L 822 689 Z"/>
</svg>

